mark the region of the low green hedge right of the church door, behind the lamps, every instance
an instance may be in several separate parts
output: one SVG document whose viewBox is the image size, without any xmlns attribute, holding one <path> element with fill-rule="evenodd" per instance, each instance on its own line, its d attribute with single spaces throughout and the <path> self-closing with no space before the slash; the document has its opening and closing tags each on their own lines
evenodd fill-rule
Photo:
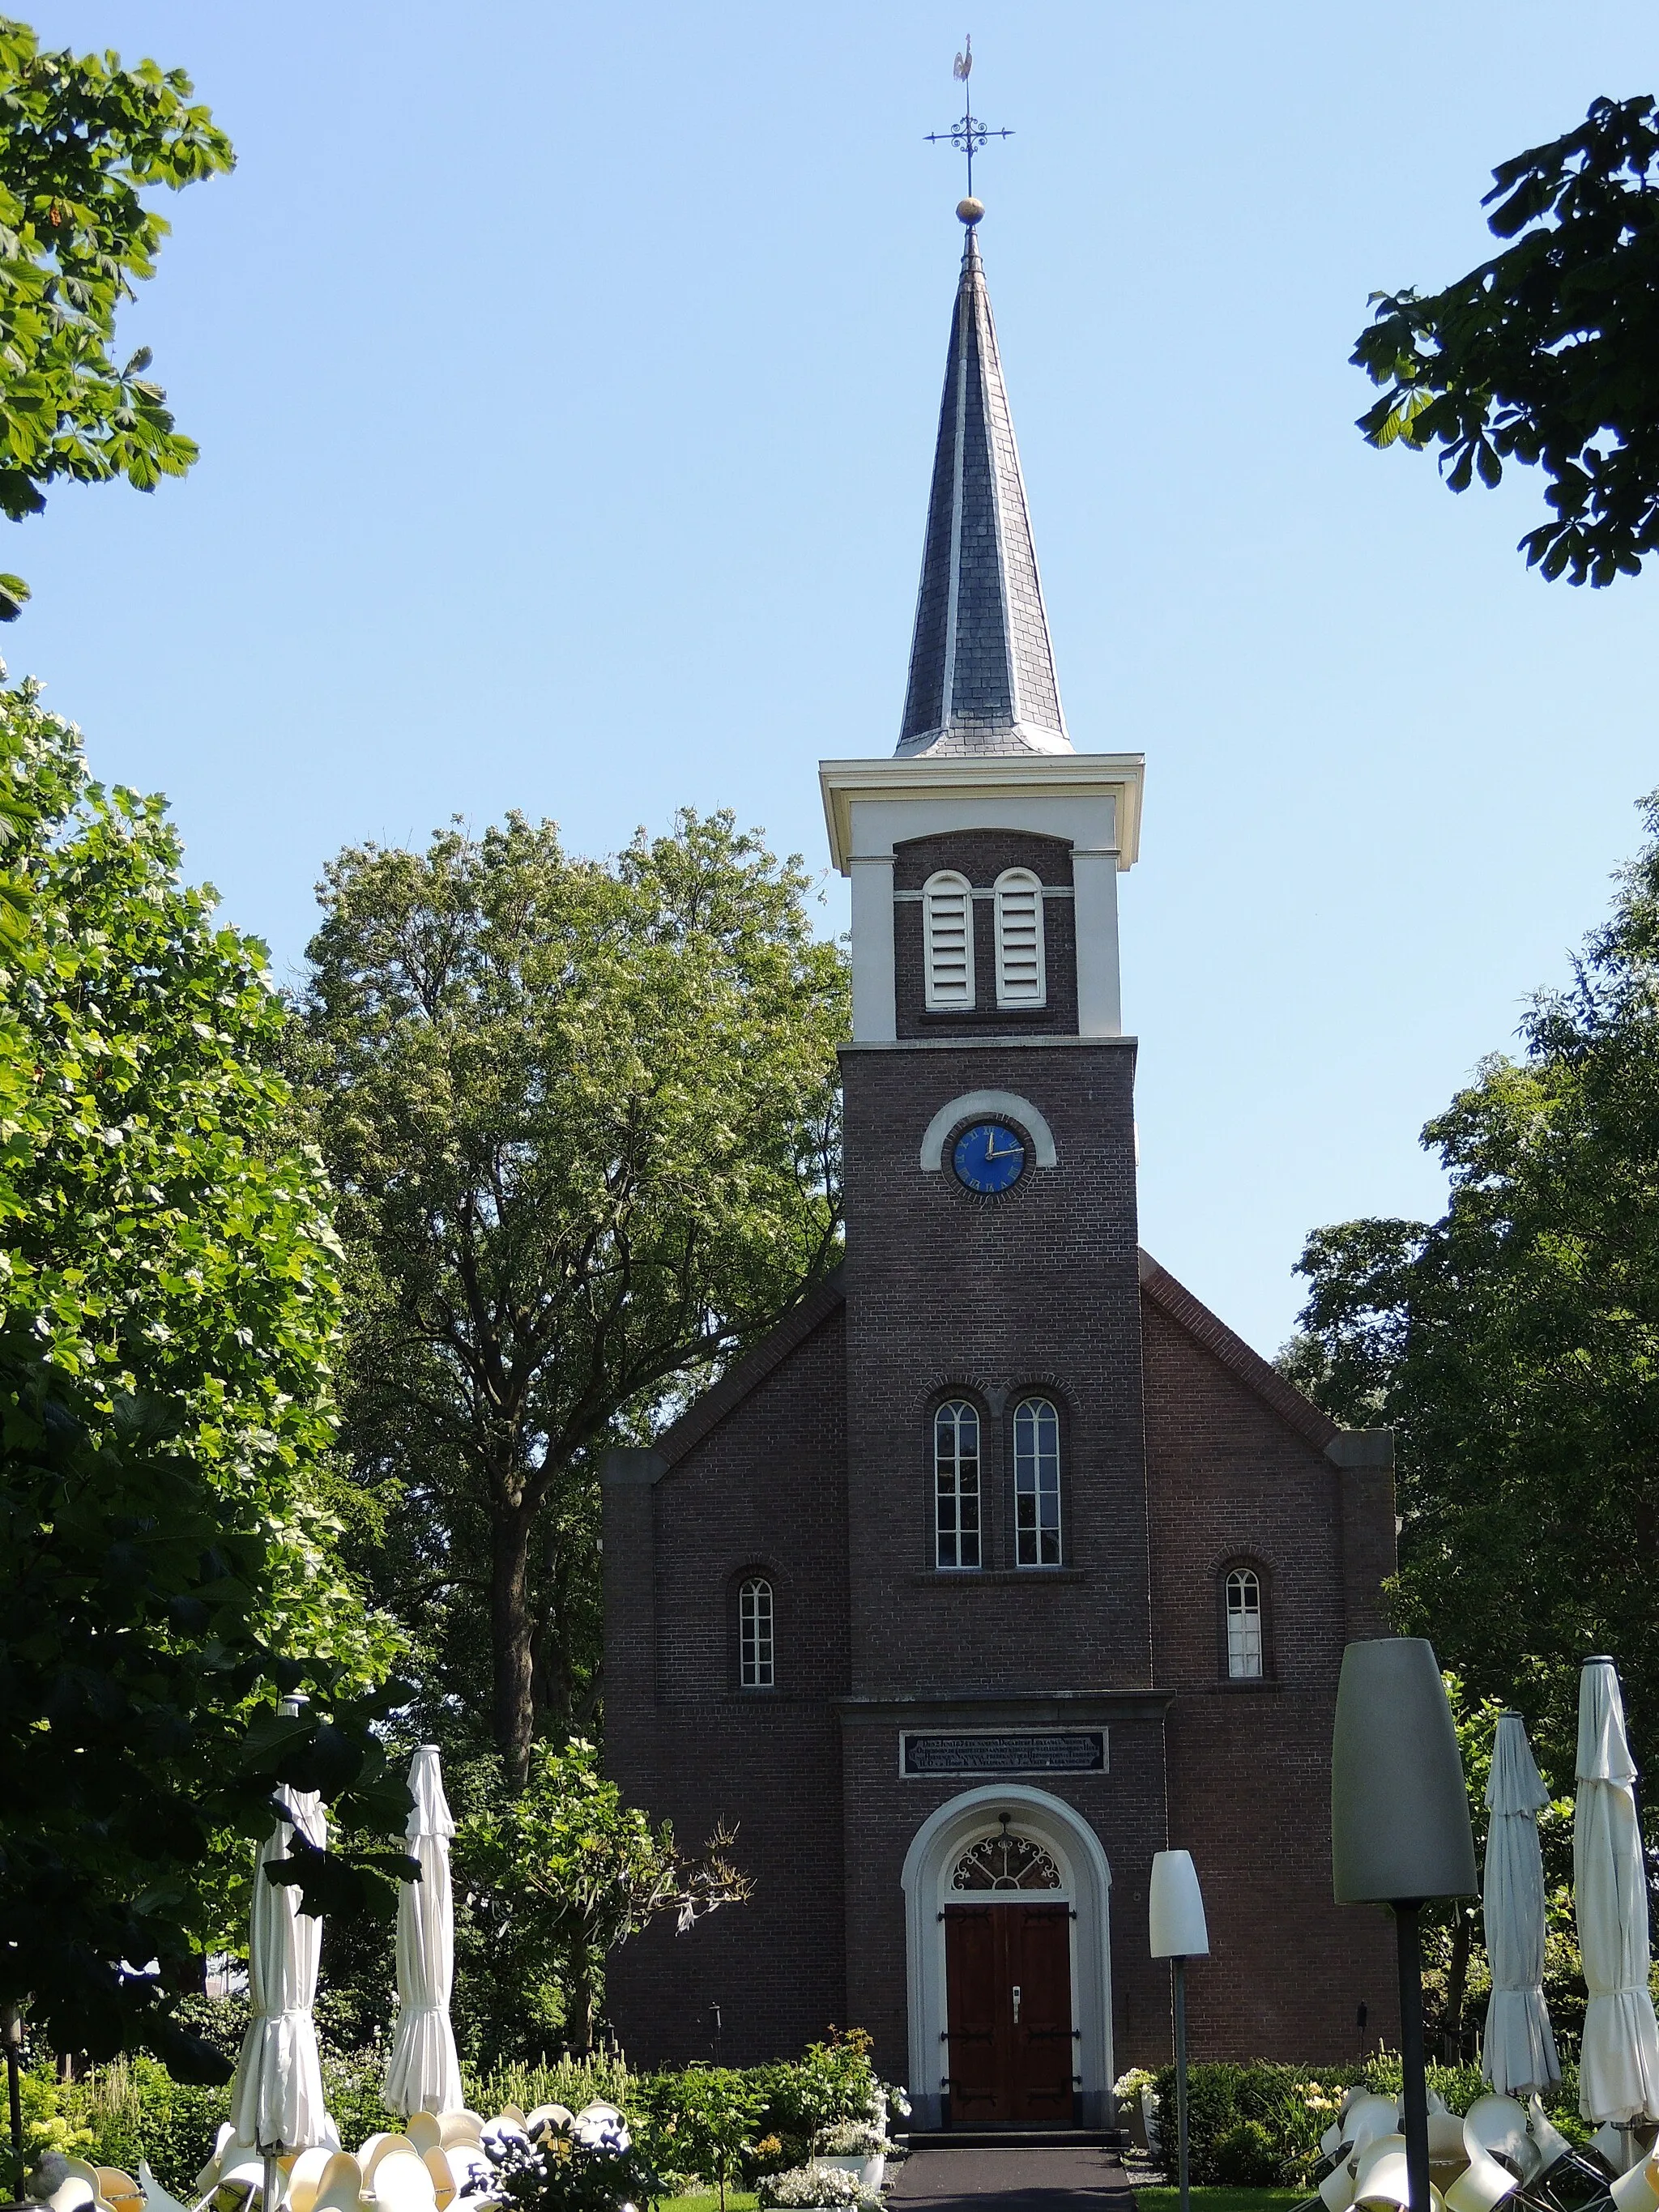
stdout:
<svg viewBox="0 0 1659 2212">
<path fill-rule="evenodd" d="M 1385 2051 L 1365 2066 L 1190 2066 L 1188 2157 L 1201 2188 L 1287 2188 L 1314 2183 L 1318 2139 L 1354 2086 L 1400 2095 L 1400 2057 Z M 1467 2112 L 1489 2093 L 1475 2066 L 1431 2066 L 1429 2088 L 1451 2112 Z M 1175 2068 L 1157 2075 L 1157 2121 L 1166 2166 L 1175 2163 Z M 1577 2117 L 1577 2073 L 1546 2099 L 1555 2126 L 1584 2139 Z"/>
</svg>

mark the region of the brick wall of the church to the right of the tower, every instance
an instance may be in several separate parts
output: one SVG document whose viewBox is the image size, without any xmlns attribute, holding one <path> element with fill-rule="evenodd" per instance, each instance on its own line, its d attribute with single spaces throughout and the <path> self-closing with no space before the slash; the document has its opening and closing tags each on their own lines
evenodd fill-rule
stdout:
<svg viewBox="0 0 1659 2212">
<path fill-rule="evenodd" d="M 1152 1652 L 1177 1690 L 1170 1843 L 1192 1851 L 1210 1920 L 1210 1958 L 1188 1975 L 1192 2055 L 1352 2059 L 1360 2004 L 1371 2046 L 1398 2039 L 1391 1922 L 1334 1905 L 1329 1863 L 1336 1677 L 1349 1637 L 1385 1632 L 1391 1486 L 1358 1493 L 1152 1298 L 1144 1356 Z M 1305 1427 L 1318 1433 L 1316 1418 Z M 1256 1564 L 1267 1588 L 1261 1683 L 1223 1674 L 1219 1575 L 1232 1559 Z"/>
</svg>

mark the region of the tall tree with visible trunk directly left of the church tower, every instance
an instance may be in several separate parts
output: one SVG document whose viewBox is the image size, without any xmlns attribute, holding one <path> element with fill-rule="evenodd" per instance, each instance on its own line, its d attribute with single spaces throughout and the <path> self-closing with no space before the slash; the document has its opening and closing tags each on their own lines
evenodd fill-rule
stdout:
<svg viewBox="0 0 1659 2212">
<path fill-rule="evenodd" d="M 847 984 L 805 889 L 726 814 L 611 865 L 509 816 L 327 869 L 303 1066 L 352 1467 L 398 1500 L 434 1725 L 484 1705 L 513 1776 L 599 1694 L 602 1447 L 834 1261 Z"/>
</svg>

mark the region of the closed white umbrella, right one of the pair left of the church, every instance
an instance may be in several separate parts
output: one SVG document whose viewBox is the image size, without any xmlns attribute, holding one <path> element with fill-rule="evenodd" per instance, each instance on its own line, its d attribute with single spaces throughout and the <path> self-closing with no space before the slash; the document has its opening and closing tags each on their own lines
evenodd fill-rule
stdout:
<svg viewBox="0 0 1659 2212">
<path fill-rule="evenodd" d="M 398 1887 L 398 2026 L 385 2068 L 385 2101 L 394 2112 L 460 2112 L 456 2035 L 449 1991 L 456 1980 L 456 1911 L 449 1887 L 449 1838 L 456 1823 L 445 1801 L 438 1745 L 422 1743 L 409 1765 L 409 1856 L 418 1882 Z"/>
</svg>

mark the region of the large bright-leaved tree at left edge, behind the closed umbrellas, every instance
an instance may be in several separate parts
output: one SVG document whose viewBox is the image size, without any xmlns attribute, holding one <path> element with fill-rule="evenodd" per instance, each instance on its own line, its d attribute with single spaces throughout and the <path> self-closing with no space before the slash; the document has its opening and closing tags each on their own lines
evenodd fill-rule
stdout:
<svg viewBox="0 0 1659 2212">
<path fill-rule="evenodd" d="M 204 2066 L 168 1984 L 226 1933 L 232 1838 L 281 1781 L 380 1832 L 407 1805 L 369 1730 L 392 1632 L 314 1489 L 338 1248 L 261 949 L 179 883 L 161 801 L 91 783 L 22 686 L 0 816 L 0 2006 Z"/>
</svg>

